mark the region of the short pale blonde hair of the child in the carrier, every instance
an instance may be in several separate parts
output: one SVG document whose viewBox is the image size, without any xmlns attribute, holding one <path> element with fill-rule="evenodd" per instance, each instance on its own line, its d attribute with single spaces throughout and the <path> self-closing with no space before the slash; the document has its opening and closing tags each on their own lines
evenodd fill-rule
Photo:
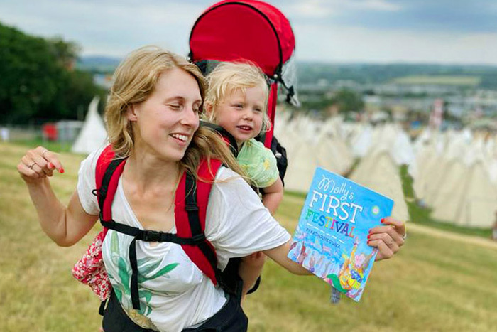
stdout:
<svg viewBox="0 0 497 332">
<path fill-rule="evenodd" d="M 204 105 L 211 105 L 212 111 L 207 115 L 209 122 L 216 123 L 216 107 L 227 95 L 241 91 L 245 94 L 247 88 L 262 87 L 264 92 L 263 128 L 261 132 L 271 129 L 271 121 L 268 117 L 268 95 L 269 88 L 266 76 L 258 66 L 252 63 L 219 63 L 212 73 L 207 76 L 209 87 L 205 95 Z"/>
</svg>

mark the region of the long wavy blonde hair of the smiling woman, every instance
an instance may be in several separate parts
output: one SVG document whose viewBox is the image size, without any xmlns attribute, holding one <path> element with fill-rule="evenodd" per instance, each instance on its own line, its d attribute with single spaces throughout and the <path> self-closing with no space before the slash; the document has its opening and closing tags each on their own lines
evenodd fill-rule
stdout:
<svg viewBox="0 0 497 332">
<path fill-rule="evenodd" d="M 127 110 L 133 104 L 144 102 L 155 89 L 160 75 L 173 68 L 185 70 L 195 77 L 204 100 L 205 78 L 196 65 L 179 55 L 156 46 L 145 46 L 134 50 L 119 64 L 105 107 L 107 133 L 117 157 L 129 156 L 134 146 L 133 124 L 126 115 Z M 219 159 L 237 173 L 244 174 L 219 134 L 199 127 L 180 161 L 180 168 L 197 176 L 200 161 L 211 158 Z"/>
</svg>

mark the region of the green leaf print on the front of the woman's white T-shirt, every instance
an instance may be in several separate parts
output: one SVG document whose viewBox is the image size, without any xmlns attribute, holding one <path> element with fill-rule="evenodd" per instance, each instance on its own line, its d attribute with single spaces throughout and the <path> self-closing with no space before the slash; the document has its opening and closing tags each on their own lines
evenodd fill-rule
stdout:
<svg viewBox="0 0 497 332">
<path fill-rule="evenodd" d="M 129 262 L 126 259 L 121 257 L 119 252 L 119 247 L 120 247 L 119 237 L 116 234 L 116 232 L 112 232 L 111 261 L 114 265 L 117 266 L 118 276 L 116 277 L 111 273 L 109 273 L 109 278 L 114 279 L 115 281 L 113 283 L 114 291 L 116 292 L 117 298 L 122 303 L 123 294 L 131 296 L 131 289 L 130 289 L 131 266 L 129 265 Z M 152 308 L 148 304 L 150 303 L 153 294 L 151 293 L 151 291 L 141 288 L 140 284 L 146 282 L 147 280 L 152 280 L 164 276 L 165 274 L 168 274 L 169 272 L 173 271 L 173 269 L 175 269 L 175 267 L 177 267 L 180 263 L 168 264 L 165 267 L 159 269 L 158 272 L 155 272 L 152 275 L 150 274 L 153 273 L 155 269 L 158 269 L 158 267 L 160 267 L 161 263 L 160 260 L 151 259 L 150 257 L 145 257 L 142 259 L 138 259 L 137 263 L 138 263 L 138 297 L 140 299 L 145 299 L 145 305 L 143 305 L 143 301 L 141 301 L 140 310 L 138 312 L 142 315 L 148 316 L 152 312 Z"/>
</svg>

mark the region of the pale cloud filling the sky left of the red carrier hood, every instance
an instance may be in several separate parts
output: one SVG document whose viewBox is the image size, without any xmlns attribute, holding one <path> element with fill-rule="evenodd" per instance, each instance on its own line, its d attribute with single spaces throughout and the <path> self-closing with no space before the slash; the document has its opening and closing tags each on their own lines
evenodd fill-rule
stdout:
<svg viewBox="0 0 497 332">
<path fill-rule="evenodd" d="M 37 36 L 63 36 L 83 46 L 84 54 L 122 56 L 133 48 L 157 44 L 186 52 L 190 28 L 202 4 L 171 1 L 18 0 L 2 6 L 0 21 Z"/>
</svg>

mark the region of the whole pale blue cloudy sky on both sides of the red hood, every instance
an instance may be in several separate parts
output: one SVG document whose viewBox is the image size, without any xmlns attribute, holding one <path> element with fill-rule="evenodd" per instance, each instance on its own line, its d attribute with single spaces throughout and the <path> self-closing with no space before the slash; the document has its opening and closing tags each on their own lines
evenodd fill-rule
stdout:
<svg viewBox="0 0 497 332">
<path fill-rule="evenodd" d="M 122 58 L 143 45 L 187 55 L 196 18 L 215 1 L 0 0 L 0 22 L 60 36 L 82 55 Z M 296 60 L 497 65 L 496 0 L 274 0 Z"/>
</svg>

